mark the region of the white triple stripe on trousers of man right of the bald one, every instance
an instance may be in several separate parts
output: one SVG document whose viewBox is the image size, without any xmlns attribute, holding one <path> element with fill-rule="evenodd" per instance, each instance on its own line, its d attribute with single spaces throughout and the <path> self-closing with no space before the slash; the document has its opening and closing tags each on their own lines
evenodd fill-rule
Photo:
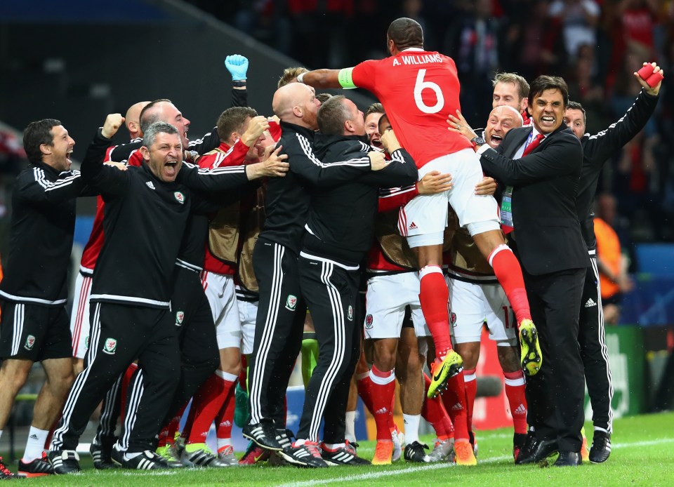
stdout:
<svg viewBox="0 0 674 487">
<path fill-rule="evenodd" d="M 321 281 L 325 284 L 328 298 L 330 300 L 330 305 L 332 307 L 335 347 L 332 352 L 330 365 L 328 366 L 323 380 L 321 381 L 321 385 L 318 389 L 316 403 L 314 405 L 314 411 L 312 412 L 311 423 L 309 427 L 309 438 L 306 438 L 309 441 L 318 441 L 321 418 L 323 418 L 323 413 L 325 411 L 325 407 L 327 406 L 333 383 L 335 382 L 339 370 L 343 366 L 346 349 L 346 331 L 342 298 L 341 295 L 339 295 L 337 288 L 333 283 L 330 282 L 333 269 L 334 264 L 332 262 L 322 262 Z"/>
</svg>

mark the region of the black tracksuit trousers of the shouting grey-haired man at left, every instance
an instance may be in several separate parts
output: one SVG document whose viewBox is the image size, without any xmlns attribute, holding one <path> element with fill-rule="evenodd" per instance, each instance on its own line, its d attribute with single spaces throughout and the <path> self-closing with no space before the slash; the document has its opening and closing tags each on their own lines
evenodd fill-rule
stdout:
<svg viewBox="0 0 674 487">
<path fill-rule="evenodd" d="M 166 416 L 180 373 L 178 333 L 168 309 L 111 303 L 91 304 L 91 340 L 84 371 L 75 379 L 54 432 L 53 450 L 74 450 L 91 413 L 119 375 L 138 358 L 145 391 L 128 451 L 152 448 Z"/>
</svg>

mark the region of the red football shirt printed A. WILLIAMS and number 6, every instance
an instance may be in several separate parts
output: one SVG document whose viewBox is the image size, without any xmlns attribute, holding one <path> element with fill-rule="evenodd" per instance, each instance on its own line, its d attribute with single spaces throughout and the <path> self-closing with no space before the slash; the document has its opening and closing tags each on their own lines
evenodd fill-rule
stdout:
<svg viewBox="0 0 674 487">
<path fill-rule="evenodd" d="M 456 115 L 459 83 L 454 60 L 418 48 L 382 60 L 361 62 L 352 80 L 384 105 L 402 147 L 421 168 L 433 159 L 473 145 L 447 130 L 447 116 Z"/>
</svg>

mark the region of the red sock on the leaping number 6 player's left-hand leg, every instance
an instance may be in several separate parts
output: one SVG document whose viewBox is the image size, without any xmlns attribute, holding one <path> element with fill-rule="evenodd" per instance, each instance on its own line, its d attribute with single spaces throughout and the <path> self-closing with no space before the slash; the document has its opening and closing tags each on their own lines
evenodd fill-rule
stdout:
<svg viewBox="0 0 674 487">
<path fill-rule="evenodd" d="M 447 351 L 451 349 L 447 283 L 444 281 L 442 269 L 437 265 L 423 267 L 419 271 L 419 279 L 421 311 L 435 342 L 435 356 L 444 359 Z"/>
</svg>

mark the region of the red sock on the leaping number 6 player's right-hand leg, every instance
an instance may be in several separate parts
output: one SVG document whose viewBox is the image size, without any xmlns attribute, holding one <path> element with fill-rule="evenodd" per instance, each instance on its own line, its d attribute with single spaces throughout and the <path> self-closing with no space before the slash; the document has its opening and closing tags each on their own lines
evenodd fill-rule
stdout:
<svg viewBox="0 0 674 487">
<path fill-rule="evenodd" d="M 494 269 L 496 279 L 501 284 L 505 295 L 508 296 L 510 306 L 515 311 L 517 329 L 519 330 L 523 319 L 531 319 L 529 298 L 527 298 L 527 291 L 524 289 L 520 262 L 517 261 L 513 251 L 503 244 L 494 248 L 494 251 L 489 255 L 489 265 Z"/>
</svg>

